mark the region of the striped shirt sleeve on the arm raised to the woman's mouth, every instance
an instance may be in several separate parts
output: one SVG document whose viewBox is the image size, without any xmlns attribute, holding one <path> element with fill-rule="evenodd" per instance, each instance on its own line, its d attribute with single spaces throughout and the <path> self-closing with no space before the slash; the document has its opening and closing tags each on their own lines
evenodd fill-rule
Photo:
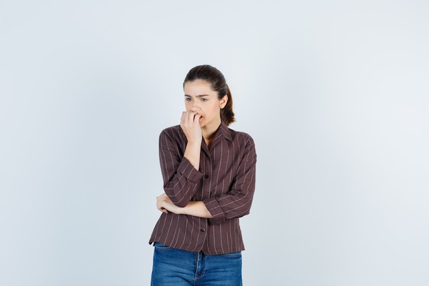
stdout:
<svg viewBox="0 0 429 286">
<path fill-rule="evenodd" d="M 179 144 L 165 130 L 161 132 L 159 150 L 164 191 L 173 204 L 184 207 L 195 194 L 203 174 L 179 154 Z"/>
</svg>

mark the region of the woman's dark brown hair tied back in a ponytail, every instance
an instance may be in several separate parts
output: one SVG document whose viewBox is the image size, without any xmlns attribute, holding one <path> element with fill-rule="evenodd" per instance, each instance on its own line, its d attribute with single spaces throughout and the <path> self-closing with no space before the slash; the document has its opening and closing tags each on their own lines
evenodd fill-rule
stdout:
<svg viewBox="0 0 429 286">
<path fill-rule="evenodd" d="M 183 82 L 183 86 L 186 82 L 193 82 L 194 80 L 204 80 L 210 84 L 213 91 L 217 92 L 217 97 L 222 99 L 223 96 L 228 95 L 228 102 L 225 107 L 221 109 L 221 120 L 229 126 L 235 121 L 234 111 L 232 111 L 232 95 L 230 87 L 226 84 L 225 77 L 219 69 L 204 64 L 201 66 L 194 67 L 188 72 Z"/>
</svg>

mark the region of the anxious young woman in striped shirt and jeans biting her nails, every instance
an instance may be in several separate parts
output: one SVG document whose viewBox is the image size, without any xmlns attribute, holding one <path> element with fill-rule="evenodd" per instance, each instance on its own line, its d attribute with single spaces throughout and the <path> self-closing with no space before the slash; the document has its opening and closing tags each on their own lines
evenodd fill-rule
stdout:
<svg viewBox="0 0 429 286">
<path fill-rule="evenodd" d="M 215 67 L 202 65 L 184 80 L 180 126 L 160 134 L 164 193 L 154 243 L 152 286 L 242 285 L 238 218 L 247 215 L 255 189 L 251 136 L 234 122 L 230 88 Z"/>
</svg>

